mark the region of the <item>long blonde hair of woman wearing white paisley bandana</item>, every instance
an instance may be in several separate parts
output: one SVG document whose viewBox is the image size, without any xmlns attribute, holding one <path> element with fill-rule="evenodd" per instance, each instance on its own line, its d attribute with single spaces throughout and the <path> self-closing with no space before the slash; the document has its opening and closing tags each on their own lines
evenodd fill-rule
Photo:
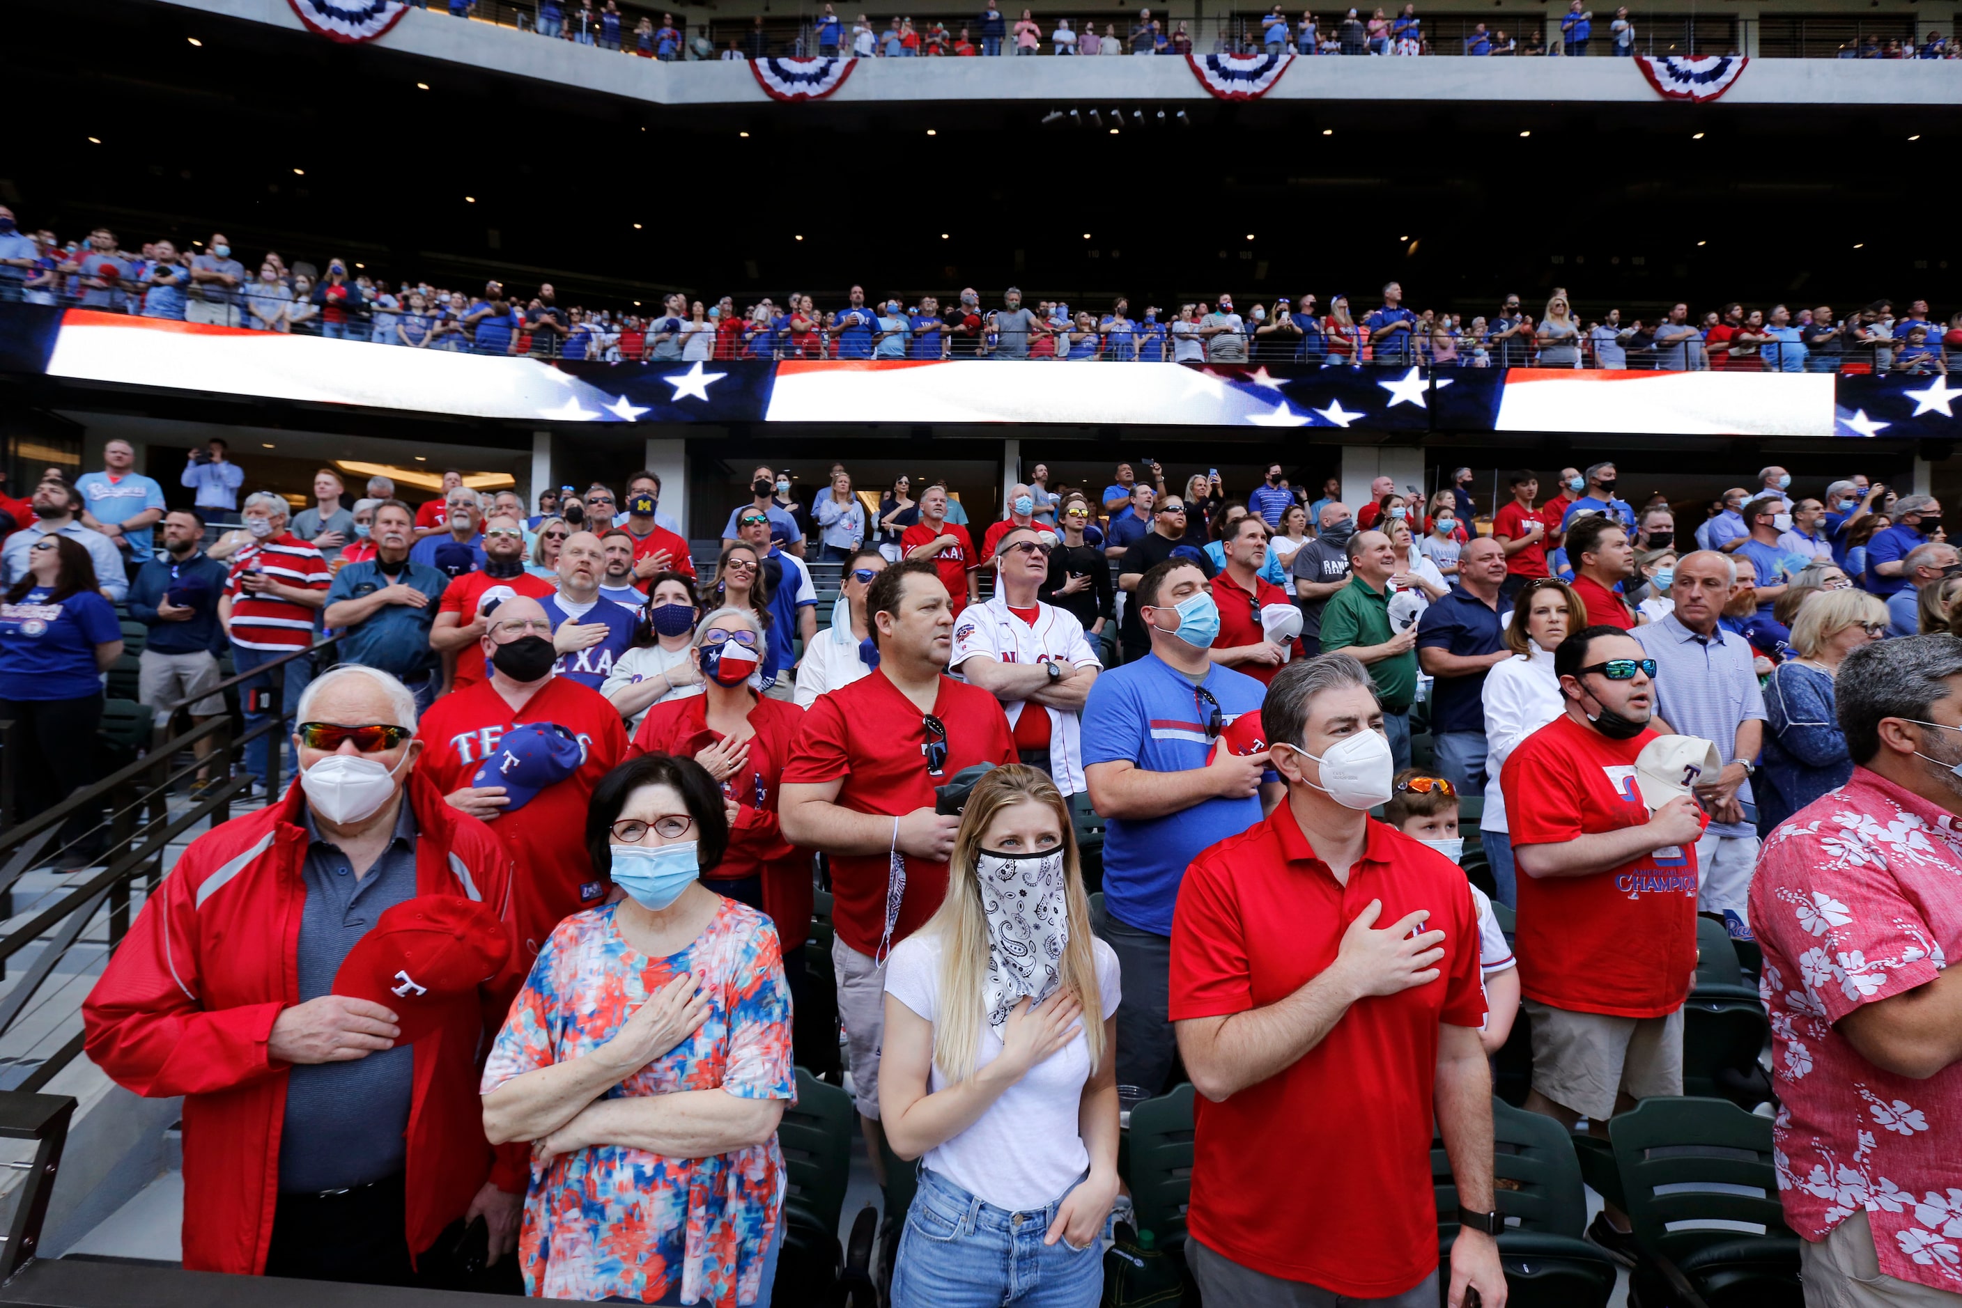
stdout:
<svg viewBox="0 0 1962 1308">
<path fill-rule="evenodd" d="M 975 877 L 981 833 L 987 831 L 995 814 L 1022 802 L 1054 810 L 1063 831 L 1063 914 L 1069 922 L 1069 943 L 1063 945 L 1058 971 L 1063 990 L 1073 990 L 1083 1004 L 1083 1039 L 1089 1043 L 1091 1067 L 1099 1067 L 1105 1055 L 1103 998 L 1097 992 L 1091 910 L 1089 896 L 1083 892 L 1069 804 L 1048 773 L 1010 763 L 983 777 L 967 796 L 967 808 L 961 810 L 961 830 L 954 837 L 954 857 L 948 859 L 948 898 L 940 900 L 940 908 L 920 928 L 940 935 L 940 1014 L 934 1018 L 934 1065 L 940 1067 L 950 1084 L 973 1075 L 975 1057 L 981 1051 L 981 1031 L 987 1026 L 981 990 L 987 982 L 989 931 L 987 912 L 981 908 L 981 882 Z"/>
</svg>

